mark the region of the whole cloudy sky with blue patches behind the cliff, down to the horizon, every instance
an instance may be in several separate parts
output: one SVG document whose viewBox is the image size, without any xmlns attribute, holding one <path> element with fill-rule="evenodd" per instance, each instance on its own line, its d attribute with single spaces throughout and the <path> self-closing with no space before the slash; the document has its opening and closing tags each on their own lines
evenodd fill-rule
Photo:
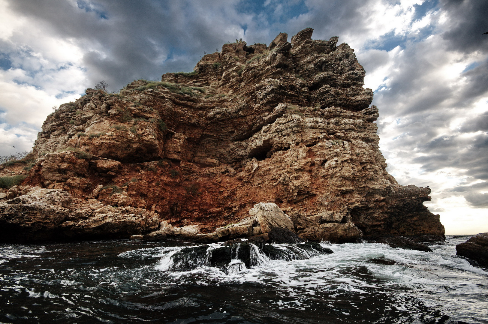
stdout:
<svg viewBox="0 0 488 324">
<path fill-rule="evenodd" d="M 388 171 L 430 185 L 447 234 L 488 232 L 487 16 L 486 0 L 0 0 L 0 156 L 100 80 L 160 80 L 225 42 L 312 27 L 365 67 Z"/>
</svg>

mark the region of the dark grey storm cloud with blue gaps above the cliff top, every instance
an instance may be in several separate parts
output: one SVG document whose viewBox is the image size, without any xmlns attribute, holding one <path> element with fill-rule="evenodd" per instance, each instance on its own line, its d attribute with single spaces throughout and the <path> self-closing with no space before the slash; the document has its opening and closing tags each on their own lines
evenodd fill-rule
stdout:
<svg viewBox="0 0 488 324">
<path fill-rule="evenodd" d="M 10 7 L 63 39 L 74 39 L 85 55 L 92 84 L 113 89 L 138 78 L 191 71 L 203 52 L 243 36 L 269 43 L 278 33 L 316 28 L 314 38 L 362 30 L 368 1 L 77 1 L 11 0 Z M 350 10 L 349 8 L 354 8 Z M 365 21 L 367 23 L 367 21 Z M 364 29 L 366 33 L 366 29 Z M 290 37 L 291 37 L 290 35 Z"/>
</svg>

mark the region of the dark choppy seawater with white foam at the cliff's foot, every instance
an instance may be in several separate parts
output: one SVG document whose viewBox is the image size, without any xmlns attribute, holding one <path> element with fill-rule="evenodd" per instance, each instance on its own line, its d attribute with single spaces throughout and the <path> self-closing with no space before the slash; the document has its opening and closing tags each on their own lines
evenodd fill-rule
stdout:
<svg viewBox="0 0 488 324">
<path fill-rule="evenodd" d="M 0 323 L 488 323 L 488 272 L 455 256 L 469 237 L 232 271 L 168 270 L 183 242 L 1 244 Z"/>
</svg>

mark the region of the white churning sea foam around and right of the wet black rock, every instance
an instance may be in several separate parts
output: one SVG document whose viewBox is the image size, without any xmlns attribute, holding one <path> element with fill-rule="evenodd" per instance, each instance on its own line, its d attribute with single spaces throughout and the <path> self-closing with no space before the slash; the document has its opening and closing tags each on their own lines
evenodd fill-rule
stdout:
<svg viewBox="0 0 488 324">
<path fill-rule="evenodd" d="M 287 244 L 276 244 L 285 248 Z M 175 284 L 222 285 L 256 283 L 269 285 L 287 296 L 295 296 L 292 302 L 279 302 L 280 307 L 303 309 L 300 298 L 317 293 L 329 297 L 368 295 L 378 289 L 398 295 L 393 309 L 405 310 L 417 307 L 405 296 L 422 299 L 424 305 L 449 309 L 468 309 L 466 304 L 478 304 L 488 308 L 488 302 L 476 299 L 487 293 L 487 272 L 473 267 L 465 259 L 457 257 L 453 244 L 433 245 L 433 252 L 391 248 L 379 243 L 327 244 L 334 251 L 330 255 L 310 256 L 305 260 L 269 260 L 259 252 L 258 265 L 246 268 L 244 263 L 233 260 L 229 271 L 202 265 L 193 269 L 168 273 Z M 215 248 L 217 245 L 213 245 Z M 210 250 L 210 249 L 209 249 Z M 300 250 L 300 248 L 297 248 Z M 163 255 L 156 269 L 167 271 L 171 253 Z M 307 252 L 300 251 L 304 254 Z M 236 253 L 237 255 L 237 253 Z M 244 266 L 243 266 L 244 265 Z M 479 283 L 484 283 L 480 285 Z M 456 301 L 456 296 L 463 300 Z M 401 303 L 398 300 L 402 301 Z M 454 302 L 456 301 L 456 302 Z M 456 305 L 453 305 L 454 304 Z M 307 307 L 307 306 L 305 306 Z M 468 308 L 467 308 L 468 307 Z"/>
</svg>

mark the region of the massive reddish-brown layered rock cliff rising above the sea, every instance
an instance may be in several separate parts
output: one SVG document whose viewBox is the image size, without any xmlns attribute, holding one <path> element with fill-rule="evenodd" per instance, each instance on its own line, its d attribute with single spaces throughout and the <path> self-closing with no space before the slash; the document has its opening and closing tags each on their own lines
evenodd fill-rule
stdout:
<svg viewBox="0 0 488 324">
<path fill-rule="evenodd" d="M 205 234 L 260 202 L 276 203 L 310 240 L 444 238 L 423 205 L 430 189 L 385 170 L 378 110 L 353 49 L 312 32 L 224 44 L 192 73 L 118 94 L 87 89 L 61 105 L 39 133 L 36 164 L 0 205 L 3 238 L 128 237 L 163 220 Z M 47 189 L 57 193 L 29 198 Z M 43 212 L 41 200 L 54 199 L 45 195 L 59 196 L 56 212 Z"/>
</svg>

